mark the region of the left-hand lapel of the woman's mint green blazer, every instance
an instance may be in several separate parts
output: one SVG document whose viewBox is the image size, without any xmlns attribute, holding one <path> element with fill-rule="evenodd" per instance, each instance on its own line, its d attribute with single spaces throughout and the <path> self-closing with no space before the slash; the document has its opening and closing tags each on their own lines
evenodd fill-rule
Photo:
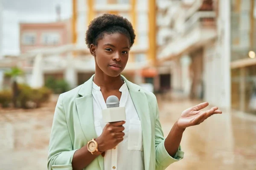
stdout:
<svg viewBox="0 0 256 170">
<path fill-rule="evenodd" d="M 94 76 L 94 75 L 93 75 Z M 76 108 L 79 116 L 80 125 L 84 132 L 84 137 L 87 141 L 97 138 L 97 134 L 94 127 L 93 117 L 93 96 L 92 96 L 92 84 L 93 76 L 85 82 L 80 91 L 81 97 L 76 98 Z M 97 157 L 101 170 L 104 169 L 103 157 Z"/>
</svg>

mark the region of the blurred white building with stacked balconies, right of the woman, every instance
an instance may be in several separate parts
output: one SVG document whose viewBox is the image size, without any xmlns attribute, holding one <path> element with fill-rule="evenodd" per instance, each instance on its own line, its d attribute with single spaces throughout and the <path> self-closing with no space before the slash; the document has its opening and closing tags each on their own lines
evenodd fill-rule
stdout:
<svg viewBox="0 0 256 170">
<path fill-rule="evenodd" d="M 159 0 L 157 88 L 230 107 L 227 6 L 229 1 Z"/>
</svg>

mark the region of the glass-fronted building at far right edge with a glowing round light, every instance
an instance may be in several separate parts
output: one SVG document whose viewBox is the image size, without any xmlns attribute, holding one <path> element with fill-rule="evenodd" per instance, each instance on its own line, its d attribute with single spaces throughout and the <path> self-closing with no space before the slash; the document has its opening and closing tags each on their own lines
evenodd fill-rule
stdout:
<svg viewBox="0 0 256 170">
<path fill-rule="evenodd" d="M 256 1 L 231 0 L 232 108 L 256 113 Z"/>
</svg>

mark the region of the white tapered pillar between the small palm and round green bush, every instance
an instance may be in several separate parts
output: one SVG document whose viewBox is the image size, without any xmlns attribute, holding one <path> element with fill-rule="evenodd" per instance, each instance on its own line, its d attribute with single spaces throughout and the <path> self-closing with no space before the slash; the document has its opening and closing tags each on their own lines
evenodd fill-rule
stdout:
<svg viewBox="0 0 256 170">
<path fill-rule="evenodd" d="M 35 57 L 35 61 L 33 63 L 32 80 L 30 85 L 32 88 L 41 88 L 44 85 L 44 73 L 42 62 L 43 56 L 42 54 L 38 54 Z"/>
</svg>

